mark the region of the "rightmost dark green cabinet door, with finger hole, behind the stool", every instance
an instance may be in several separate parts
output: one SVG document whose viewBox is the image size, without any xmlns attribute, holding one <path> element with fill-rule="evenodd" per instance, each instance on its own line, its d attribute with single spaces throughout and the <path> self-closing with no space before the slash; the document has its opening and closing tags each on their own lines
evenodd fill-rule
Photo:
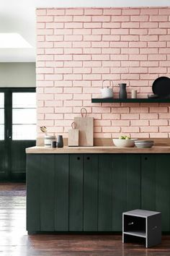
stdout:
<svg viewBox="0 0 170 256">
<path fill-rule="evenodd" d="M 162 213 L 162 231 L 170 231 L 169 154 L 142 155 L 142 208 Z"/>
</svg>

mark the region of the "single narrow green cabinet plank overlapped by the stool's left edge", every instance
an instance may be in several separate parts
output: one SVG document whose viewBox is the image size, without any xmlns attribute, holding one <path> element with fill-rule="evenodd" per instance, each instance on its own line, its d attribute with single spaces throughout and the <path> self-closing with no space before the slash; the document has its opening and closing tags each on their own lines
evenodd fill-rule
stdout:
<svg viewBox="0 0 170 256">
<path fill-rule="evenodd" d="M 122 213 L 126 211 L 126 167 L 127 155 L 115 154 L 113 158 L 113 200 L 112 200 L 112 229 L 122 231 Z"/>
</svg>

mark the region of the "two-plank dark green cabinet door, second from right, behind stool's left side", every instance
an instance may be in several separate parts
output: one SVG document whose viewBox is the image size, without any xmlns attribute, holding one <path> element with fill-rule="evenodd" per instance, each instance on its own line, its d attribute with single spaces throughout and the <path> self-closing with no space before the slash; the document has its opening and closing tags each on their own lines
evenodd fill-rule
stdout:
<svg viewBox="0 0 170 256">
<path fill-rule="evenodd" d="M 112 230 L 122 231 L 122 213 L 140 208 L 140 155 L 112 156 Z"/>
</svg>

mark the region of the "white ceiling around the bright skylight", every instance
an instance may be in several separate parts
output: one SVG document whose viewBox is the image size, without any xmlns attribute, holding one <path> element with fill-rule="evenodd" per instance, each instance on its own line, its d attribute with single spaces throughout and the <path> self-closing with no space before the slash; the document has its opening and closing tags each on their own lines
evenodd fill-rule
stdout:
<svg viewBox="0 0 170 256">
<path fill-rule="evenodd" d="M 35 61 L 37 7 L 166 7 L 170 0 L 0 0 L 0 33 L 20 33 L 33 48 L 0 49 L 0 62 Z"/>
</svg>

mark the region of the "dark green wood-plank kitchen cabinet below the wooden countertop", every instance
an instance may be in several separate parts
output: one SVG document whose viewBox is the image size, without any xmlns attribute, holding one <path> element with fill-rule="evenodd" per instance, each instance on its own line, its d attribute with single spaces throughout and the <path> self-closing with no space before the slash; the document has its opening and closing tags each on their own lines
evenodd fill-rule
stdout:
<svg viewBox="0 0 170 256">
<path fill-rule="evenodd" d="M 169 154 L 27 154 L 27 230 L 122 231 L 142 208 L 170 231 L 169 180 Z"/>
</svg>

